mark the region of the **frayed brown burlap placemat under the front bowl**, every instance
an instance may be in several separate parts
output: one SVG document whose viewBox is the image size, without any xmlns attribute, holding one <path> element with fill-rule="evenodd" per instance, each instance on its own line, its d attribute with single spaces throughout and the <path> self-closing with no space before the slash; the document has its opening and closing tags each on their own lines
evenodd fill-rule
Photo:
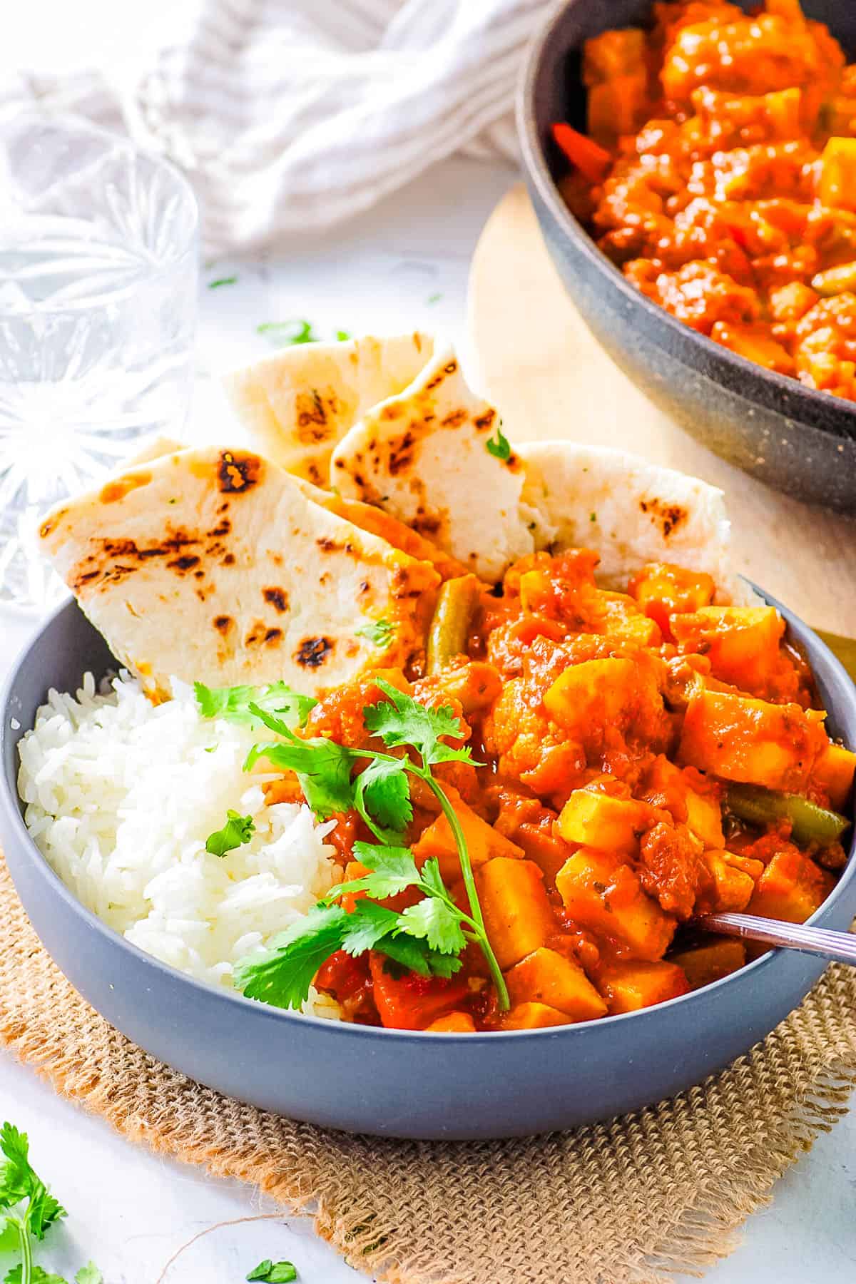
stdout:
<svg viewBox="0 0 856 1284">
<path fill-rule="evenodd" d="M 830 967 L 749 1057 L 638 1115 L 512 1141 L 348 1136 L 241 1106 L 135 1048 L 53 964 L 0 860 L 0 1040 L 131 1140 L 312 1212 L 379 1280 L 655 1284 L 726 1254 L 844 1112 L 856 971 Z"/>
</svg>

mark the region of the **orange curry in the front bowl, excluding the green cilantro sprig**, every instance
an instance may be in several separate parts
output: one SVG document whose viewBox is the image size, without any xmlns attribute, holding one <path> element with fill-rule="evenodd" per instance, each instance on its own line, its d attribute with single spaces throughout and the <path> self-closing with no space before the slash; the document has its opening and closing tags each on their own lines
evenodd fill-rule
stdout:
<svg viewBox="0 0 856 1284">
<path fill-rule="evenodd" d="M 511 1011 L 497 1011 L 476 946 L 450 980 L 339 953 L 316 984 L 345 1019 L 472 1031 L 630 1012 L 746 962 L 739 941 L 694 931 L 694 915 L 802 921 L 833 887 L 841 845 L 800 847 L 788 822 L 744 827 L 725 805 L 729 781 L 833 808 L 851 788 L 856 755 L 830 743 L 776 611 L 712 605 L 710 575 L 665 564 L 607 592 L 595 565 L 585 550 L 526 557 L 483 587 L 466 656 L 432 677 L 382 670 L 417 700 L 450 705 L 484 764 L 435 770 L 467 835 Z M 322 700 L 304 734 L 380 749 L 363 722 L 380 698 L 363 675 Z M 418 864 L 439 859 L 466 909 L 449 826 L 412 783 L 407 841 Z M 300 796 L 294 778 L 271 790 Z M 358 838 L 371 835 L 349 813 L 329 840 L 348 880 L 366 872 Z"/>
</svg>

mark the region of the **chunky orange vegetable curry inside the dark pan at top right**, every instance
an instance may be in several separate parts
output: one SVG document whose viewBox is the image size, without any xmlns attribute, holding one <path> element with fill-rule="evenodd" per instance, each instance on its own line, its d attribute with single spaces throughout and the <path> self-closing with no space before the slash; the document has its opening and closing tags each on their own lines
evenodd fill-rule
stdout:
<svg viewBox="0 0 856 1284">
<path fill-rule="evenodd" d="M 652 13 L 586 41 L 567 205 L 672 316 L 856 401 L 856 64 L 798 0 Z"/>
</svg>

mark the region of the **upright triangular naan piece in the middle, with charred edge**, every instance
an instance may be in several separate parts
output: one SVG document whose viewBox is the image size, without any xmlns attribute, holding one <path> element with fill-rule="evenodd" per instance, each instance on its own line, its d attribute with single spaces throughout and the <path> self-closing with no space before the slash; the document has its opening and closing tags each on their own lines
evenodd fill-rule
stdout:
<svg viewBox="0 0 856 1284">
<path fill-rule="evenodd" d="M 330 484 L 407 523 L 481 579 L 499 579 L 535 542 L 520 458 L 488 451 L 498 422 L 445 351 L 350 429 L 334 451 Z"/>
</svg>

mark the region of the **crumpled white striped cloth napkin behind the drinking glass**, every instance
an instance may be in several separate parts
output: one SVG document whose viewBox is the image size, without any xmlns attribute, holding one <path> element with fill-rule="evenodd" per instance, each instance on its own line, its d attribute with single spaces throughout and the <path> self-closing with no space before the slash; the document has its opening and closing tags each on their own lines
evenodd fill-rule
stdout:
<svg viewBox="0 0 856 1284">
<path fill-rule="evenodd" d="M 19 76 L 193 180 L 208 252 L 258 250 L 367 208 L 453 152 L 516 158 L 515 81 L 548 0 L 203 0 L 149 65 Z"/>
</svg>

